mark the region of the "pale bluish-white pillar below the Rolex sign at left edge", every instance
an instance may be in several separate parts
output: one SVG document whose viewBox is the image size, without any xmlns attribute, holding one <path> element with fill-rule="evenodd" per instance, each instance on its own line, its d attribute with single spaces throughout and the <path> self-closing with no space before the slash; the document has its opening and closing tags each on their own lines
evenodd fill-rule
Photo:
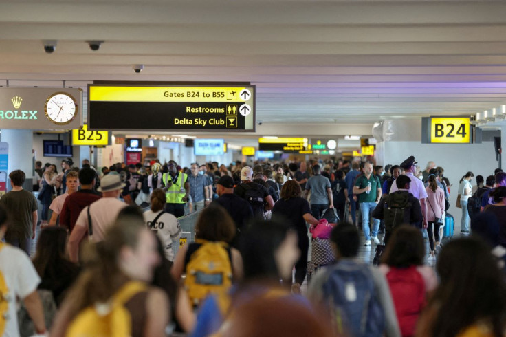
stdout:
<svg viewBox="0 0 506 337">
<path fill-rule="evenodd" d="M 26 175 L 23 188 L 27 191 L 33 190 L 33 141 L 32 130 L 2 129 L 0 140 L 9 144 L 8 173 L 14 170 L 21 170 Z M 7 189 L 10 191 L 10 180 L 8 179 Z"/>
</svg>

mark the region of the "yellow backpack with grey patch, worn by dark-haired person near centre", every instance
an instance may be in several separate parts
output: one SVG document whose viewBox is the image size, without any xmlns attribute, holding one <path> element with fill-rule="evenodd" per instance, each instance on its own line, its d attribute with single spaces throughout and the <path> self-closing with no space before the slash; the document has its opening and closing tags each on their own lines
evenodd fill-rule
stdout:
<svg viewBox="0 0 506 337">
<path fill-rule="evenodd" d="M 196 248 L 196 250 L 195 250 Z M 196 240 L 186 253 L 184 287 L 192 306 L 199 305 L 208 294 L 222 299 L 232 286 L 232 257 L 224 242 Z"/>
</svg>

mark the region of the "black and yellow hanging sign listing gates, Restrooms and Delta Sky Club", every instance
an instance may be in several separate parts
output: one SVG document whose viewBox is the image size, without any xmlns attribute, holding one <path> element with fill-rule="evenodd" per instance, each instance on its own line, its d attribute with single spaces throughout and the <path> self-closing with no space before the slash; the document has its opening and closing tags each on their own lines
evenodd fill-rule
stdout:
<svg viewBox="0 0 506 337">
<path fill-rule="evenodd" d="M 89 85 L 91 130 L 255 131 L 256 87 Z"/>
</svg>

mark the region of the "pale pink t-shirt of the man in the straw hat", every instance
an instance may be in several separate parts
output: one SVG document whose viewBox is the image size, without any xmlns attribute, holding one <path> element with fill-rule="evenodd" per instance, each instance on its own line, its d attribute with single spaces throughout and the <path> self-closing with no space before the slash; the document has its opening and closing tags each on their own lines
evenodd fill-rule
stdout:
<svg viewBox="0 0 506 337">
<path fill-rule="evenodd" d="M 105 230 L 114 224 L 120 210 L 128 206 L 119 199 L 113 197 L 102 197 L 96 202 L 81 210 L 76 221 L 76 226 L 88 228 L 88 207 L 91 215 L 91 227 L 93 227 L 93 241 L 98 242 L 104 239 Z"/>
</svg>

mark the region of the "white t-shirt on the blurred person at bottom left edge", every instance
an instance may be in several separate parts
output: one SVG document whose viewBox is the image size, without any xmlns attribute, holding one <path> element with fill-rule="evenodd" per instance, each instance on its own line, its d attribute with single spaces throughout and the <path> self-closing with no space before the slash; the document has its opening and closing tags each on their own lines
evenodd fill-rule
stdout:
<svg viewBox="0 0 506 337">
<path fill-rule="evenodd" d="M 19 336 L 17 297 L 23 299 L 32 294 L 41 283 L 41 278 L 23 250 L 5 243 L 0 250 L 0 272 L 8 289 L 8 318 L 3 336 L 17 337 Z"/>
</svg>

